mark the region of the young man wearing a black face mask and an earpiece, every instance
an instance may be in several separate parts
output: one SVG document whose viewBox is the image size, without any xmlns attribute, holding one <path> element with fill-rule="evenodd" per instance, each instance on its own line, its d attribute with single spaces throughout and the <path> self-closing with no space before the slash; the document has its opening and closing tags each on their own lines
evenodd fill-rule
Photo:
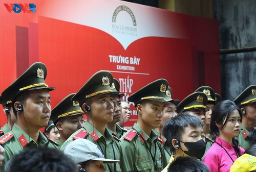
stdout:
<svg viewBox="0 0 256 172">
<path fill-rule="evenodd" d="M 206 146 L 203 129 L 204 123 L 198 117 L 187 112 L 180 113 L 165 122 L 162 132 L 174 155 L 162 171 L 167 172 L 169 165 L 177 157 L 202 158 Z"/>
</svg>

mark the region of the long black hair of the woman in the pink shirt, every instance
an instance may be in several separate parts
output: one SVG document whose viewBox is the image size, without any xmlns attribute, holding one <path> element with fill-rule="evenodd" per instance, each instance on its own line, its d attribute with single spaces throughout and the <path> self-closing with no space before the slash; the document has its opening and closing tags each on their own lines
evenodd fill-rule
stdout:
<svg viewBox="0 0 256 172">
<path fill-rule="evenodd" d="M 216 124 L 221 125 L 221 129 L 226 125 L 228 118 L 233 110 L 238 110 L 241 121 L 242 121 L 242 112 L 240 108 L 232 101 L 224 100 L 222 102 L 219 102 L 214 106 L 211 112 L 211 119 L 210 119 L 210 134 L 214 136 L 219 135 L 219 129 L 216 126 Z M 239 156 L 241 156 L 240 149 L 238 148 L 239 142 L 234 137 L 232 138 L 232 143 L 234 146 L 234 150 L 238 153 Z"/>
</svg>

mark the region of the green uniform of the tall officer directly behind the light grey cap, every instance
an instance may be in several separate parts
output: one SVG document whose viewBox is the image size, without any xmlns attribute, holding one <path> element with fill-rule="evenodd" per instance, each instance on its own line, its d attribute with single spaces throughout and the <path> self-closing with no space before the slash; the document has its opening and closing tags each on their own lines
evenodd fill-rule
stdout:
<svg viewBox="0 0 256 172">
<path fill-rule="evenodd" d="M 65 150 L 67 145 L 77 138 L 84 138 L 97 144 L 100 150 L 103 152 L 104 157 L 107 159 L 120 160 L 121 147 L 119 144 L 119 139 L 114 137 L 112 132 L 105 128 L 105 137 L 100 134 L 100 132 L 93 127 L 89 122 L 86 122 L 84 128 L 79 129 L 73 133 L 65 143 L 62 144 L 60 150 Z M 121 171 L 119 163 L 104 164 L 106 171 Z M 110 170 L 111 169 L 111 170 Z"/>
</svg>

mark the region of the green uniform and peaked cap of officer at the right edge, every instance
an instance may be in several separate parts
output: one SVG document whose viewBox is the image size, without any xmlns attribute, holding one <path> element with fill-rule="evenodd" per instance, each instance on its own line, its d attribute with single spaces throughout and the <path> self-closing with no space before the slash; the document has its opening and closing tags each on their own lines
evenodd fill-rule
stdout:
<svg viewBox="0 0 256 172">
<path fill-rule="evenodd" d="M 245 118 L 248 118 L 248 114 L 246 111 L 246 106 L 248 104 L 256 102 L 256 85 L 250 85 L 248 86 L 243 92 L 241 92 L 236 99 L 233 100 L 234 103 L 236 103 L 239 108 L 243 108 L 242 114 L 243 114 L 243 120 Z M 247 119 L 249 120 L 249 119 Z M 254 122 L 254 125 L 256 123 Z M 254 128 L 252 130 L 255 130 Z M 252 140 L 249 138 L 249 131 L 243 126 L 240 125 L 240 132 L 238 137 L 236 137 L 239 141 L 239 146 L 241 146 L 244 150 L 249 148 L 252 144 Z"/>
</svg>

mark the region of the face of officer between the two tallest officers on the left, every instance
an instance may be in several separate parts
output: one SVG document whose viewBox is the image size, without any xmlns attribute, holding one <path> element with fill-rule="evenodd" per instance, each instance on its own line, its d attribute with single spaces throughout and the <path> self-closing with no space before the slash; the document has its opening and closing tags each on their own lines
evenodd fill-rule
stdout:
<svg viewBox="0 0 256 172">
<path fill-rule="evenodd" d="M 68 139 L 74 132 L 84 126 L 82 115 L 68 116 L 62 122 L 57 122 L 56 126 L 60 130 L 61 138 Z"/>
</svg>

